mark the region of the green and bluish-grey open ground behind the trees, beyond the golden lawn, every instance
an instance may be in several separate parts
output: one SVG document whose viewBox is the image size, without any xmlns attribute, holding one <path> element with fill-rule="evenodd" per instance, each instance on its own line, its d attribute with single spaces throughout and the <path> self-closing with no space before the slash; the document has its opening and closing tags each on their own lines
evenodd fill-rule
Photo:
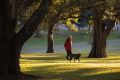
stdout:
<svg viewBox="0 0 120 80">
<path fill-rule="evenodd" d="M 54 49 L 55 52 L 64 52 L 64 41 L 66 37 L 71 34 L 73 36 L 73 52 L 90 52 L 92 37 L 87 31 L 71 32 L 60 31 L 54 35 Z M 47 38 L 46 33 L 42 38 L 31 38 L 23 46 L 23 53 L 46 52 Z M 111 32 L 107 40 L 107 52 L 120 52 L 120 31 Z"/>
</svg>

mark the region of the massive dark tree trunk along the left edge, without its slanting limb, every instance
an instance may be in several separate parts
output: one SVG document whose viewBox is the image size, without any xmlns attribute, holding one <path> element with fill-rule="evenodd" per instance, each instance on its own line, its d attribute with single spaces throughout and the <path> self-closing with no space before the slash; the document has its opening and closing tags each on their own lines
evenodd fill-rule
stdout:
<svg viewBox="0 0 120 80">
<path fill-rule="evenodd" d="M 20 73 L 18 48 L 15 43 L 17 12 L 12 1 L 2 1 L 0 32 L 0 77 Z M 9 13 L 9 14 L 8 14 Z M 17 41 L 16 41 L 17 42 Z"/>
</svg>

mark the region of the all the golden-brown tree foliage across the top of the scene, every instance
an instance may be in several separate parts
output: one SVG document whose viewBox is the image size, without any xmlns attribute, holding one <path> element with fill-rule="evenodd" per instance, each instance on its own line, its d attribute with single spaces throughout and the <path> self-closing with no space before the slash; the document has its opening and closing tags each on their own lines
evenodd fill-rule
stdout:
<svg viewBox="0 0 120 80">
<path fill-rule="evenodd" d="M 32 0 L 31 0 L 32 1 Z M 36 10 L 36 8 L 39 6 L 39 0 L 36 0 L 34 3 L 32 3 L 31 6 L 27 7 L 25 10 L 22 11 L 22 14 L 20 18 L 22 17 L 23 21 L 25 22 L 27 19 L 29 19 L 29 16 Z M 104 3 L 104 4 L 103 4 Z M 50 16 L 55 14 L 60 14 L 60 22 L 65 24 L 68 23 L 68 18 L 79 19 L 76 24 L 70 23 L 66 25 L 70 28 L 70 30 L 75 30 L 77 25 L 80 27 L 84 27 L 86 25 L 94 26 L 93 22 L 93 12 L 92 8 L 97 6 L 96 8 L 99 10 L 103 9 L 105 10 L 105 13 L 103 13 L 103 19 L 114 18 L 113 16 L 119 15 L 119 0 L 53 0 L 53 5 L 51 6 L 51 9 L 49 10 L 48 14 L 46 15 L 46 19 L 44 19 L 40 26 L 40 30 L 46 30 L 50 20 Z M 30 4 L 30 3 L 29 3 Z M 69 4 L 69 5 L 68 5 Z M 64 6 L 64 7 L 63 7 Z M 62 9 L 60 9 L 62 7 Z M 78 12 L 76 12 L 78 11 Z M 75 13 L 76 12 L 76 13 Z M 104 12 L 104 11 L 103 11 Z M 77 17 L 74 15 L 78 15 Z M 118 17 L 117 17 L 118 18 Z M 68 19 L 68 20 L 67 20 Z M 75 19 L 75 21 L 76 21 Z M 50 20 L 51 21 L 51 20 Z M 56 23 L 55 23 L 56 24 Z M 73 29 L 74 28 L 74 29 Z"/>
</svg>

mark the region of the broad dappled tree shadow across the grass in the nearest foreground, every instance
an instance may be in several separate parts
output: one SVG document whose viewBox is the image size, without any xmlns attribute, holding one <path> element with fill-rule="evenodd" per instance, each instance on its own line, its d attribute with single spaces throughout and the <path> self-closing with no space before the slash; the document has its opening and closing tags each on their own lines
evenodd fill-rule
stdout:
<svg viewBox="0 0 120 80">
<path fill-rule="evenodd" d="M 73 65 L 74 66 L 74 65 Z M 81 69 L 56 69 L 59 65 L 54 66 L 39 66 L 32 67 L 31 70 L 25 73 L 43 76 L 45 80 L 60 79 L 60 80 L 120 80 L 120 72 L 108 72 L 96 74 L 99 71 L 105 71 L 105 68 L 81 68 Z M 94 74 L 92 74 L 94 73 Z"/>
</svg>

